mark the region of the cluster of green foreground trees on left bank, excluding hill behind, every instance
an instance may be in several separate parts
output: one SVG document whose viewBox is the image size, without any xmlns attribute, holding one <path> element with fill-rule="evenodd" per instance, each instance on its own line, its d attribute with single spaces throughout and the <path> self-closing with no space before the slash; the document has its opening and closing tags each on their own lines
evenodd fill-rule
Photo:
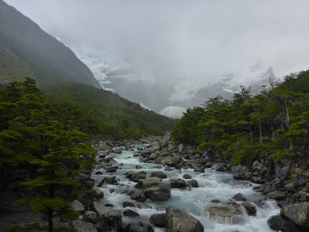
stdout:
<svg viewBox="0 0 309 232">
<path fill-rule="evenodd" d="M 71 220 L 79 216 L 67 200 L 78 197 L 74 177 L 93 170 L 96 151 L 87 143 L 88 134 L 74 123 L 66 124 L 74 112 L 61 114 L 57 106 L 44 100 L 33 79 L 9 83 L 0 100 L 0 179 L 15 167 L 32 170 L 35 178 L 21 186 L 40 197 L 28 196 L 13 204 L 46 214 L 52 232 L 53 217 Z"/>
</svg>

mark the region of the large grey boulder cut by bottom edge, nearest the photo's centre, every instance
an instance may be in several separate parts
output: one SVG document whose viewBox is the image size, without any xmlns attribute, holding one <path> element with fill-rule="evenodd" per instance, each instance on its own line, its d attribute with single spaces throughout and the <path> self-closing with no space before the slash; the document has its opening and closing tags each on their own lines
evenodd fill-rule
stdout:
<svg viewBox="0 0 309 232">
<path fill-rule="evenodd" d="M 199 220 L 176 207 L 167 208 L 165 229 L 166 232 L 204 232 Z"/>
</svg>

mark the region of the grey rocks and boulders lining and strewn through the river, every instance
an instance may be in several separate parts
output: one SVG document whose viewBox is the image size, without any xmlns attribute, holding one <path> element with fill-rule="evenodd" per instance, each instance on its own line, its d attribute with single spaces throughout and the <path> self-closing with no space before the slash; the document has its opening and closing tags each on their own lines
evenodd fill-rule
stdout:
<svg viewBox="0 0 309 232">
<path fill-rule="evenodd" d="M 133 144 L 136 144 L 133 148 Z M 122 185 L 113 173 L 121 170 L 121 163 L 117 163 L 113 154 L 121 154 L 123 151 L 135 151 L 134 156 L 142 163 L 157 165 L 157 168 L 164 170 L 194 170 L 196 173 L 204 173 L 205 169 L 212 168 L 216 172 L 234 173 L 233 178 L 239 181 L 248 181 L 254 184 L 254 191 L 262 193 L 259 201 L 265 199 L 276 200 L 281 208 L 280 215 L 269 218 L 268 225 L 273 230 L 284 231 L 307 231 L 309 228 L 309 169 L 308 150 L 300 149 L 297 158 L 283 160 L 274 163 L 271 157 L 259 159 L 251 165 L 231 166 L 228 160 L 217 154 L 206 151 L 205 153 L 195 153 L 196 148 L 173 144 L 168 136 L 147 138 L 139 141 L 101 141 L 95 143 L 97 149 L 97 164 L 93 174 L 99 175 L 98 170 L 104 170 L 104 174 L 110 174 L 104 178 L 91 178 L 90 174 L 79 174 L 76 181 L 88 189 L 93 189 L 92 197 L 84 202 L 75 200 L 71 203 L 74 209 L 80 212 L 80 218 L 75 221 L 63 221 L 57 219 L 57 226 L 61 224 L 74 226 L 78 231 L 154 231 L 153 228 L 165 228 L 168 231 L 204 231 L 201 222 L 190 214 L 179 208 L 170 207 L 165 209 L 165 213 L 155 213 L 147 220 L 139 220 L 138 213 L 132 209 L 115 209 L 113 202 L 102 202 L 104 193 L 99 189 L 104 185 Z M 125 173 L 125 178 L 134 183 L 134 188 L 124 191 L 123 194 L 129 195 L 132 201 L 123 202 L 123 207 L 147 208 L 149 205 L 144 203 L 147 199 L 152 201 L 164 202 L 171 197 L 171 189 L 177 188 L 183 191 L 190 191 L 192 188 L 199 187 L 198 181 L 188 175 L 183 178 L 170 178 L 168 184 L 162 182 L 165 179 L 162 171 L 152 172 L 151 176 L 140 171 L 141 167 L 136 165 L 136 170 L 129 170 Z M 37 226 L 41 231 L 47 231 L 47 223 L 39 217 L 21 207 L 12 207 L 10 203 L 23 197 L 25 193 L 19 187 L 19 183 L 27 181 L 30 177 L 27 170 L 16 170 L 11 174 L 12 183 L 5 191 L 2 191 L 2 216 L 0 219 L 1 230 L 19 225 L 24 230 L 33 230 L 33 222 L 42 223 Z M 205 177 L 207 178 L 207 177 Z M 109 191 L 115 191 L 110 188 Z M 189 195 L 190 193 L 188 193 Z M 235 203 L 237 201 L 237 203 Z M 101 202 L 101 203 L 99 203 Z M 256 213 L 256 206 L 246 202 L 245 195 L 241 192 L 236 194 L 228 204 L 218 204 L 209 209 L 210 217 L 220 218 L 222 223 L 238 223 L 235 218 L 242 212 L 239 211 L 239 202 L 244 207 L 248 215 Z M 213 203 L 220 203 L 214 199 Z M 14 212 L 18 212 L 22 221 L 12 217 Z M 24 216 L 23 216 L 24 215 Z M 30 215 L 30 217 L 29 217 Z M 31 217 L 33 216 L 33 220 Z M 17 215 L 16 215 L 17 216 Z M 123 221 L 123 217 L 130 217 L 130 222 Z M 32 225 L 32 226 L 31 226 Z M 56 226 L 56 227 L 57 227 Z M 182 229 L 180 229 L 182 228 Z"/>
</svg>

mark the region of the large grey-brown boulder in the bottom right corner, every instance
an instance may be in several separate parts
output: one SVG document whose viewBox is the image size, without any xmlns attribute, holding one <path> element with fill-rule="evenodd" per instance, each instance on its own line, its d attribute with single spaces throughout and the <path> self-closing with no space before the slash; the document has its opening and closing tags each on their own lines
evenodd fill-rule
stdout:
<svg viewBox="0 0 309 232">
<path fill-rule="evenodd" d="M 283 218 L 296 224 L 300 229 L 307 231 L 309 228 L 309 202 L 287 205 L 280 210 Z"/>
</svg>

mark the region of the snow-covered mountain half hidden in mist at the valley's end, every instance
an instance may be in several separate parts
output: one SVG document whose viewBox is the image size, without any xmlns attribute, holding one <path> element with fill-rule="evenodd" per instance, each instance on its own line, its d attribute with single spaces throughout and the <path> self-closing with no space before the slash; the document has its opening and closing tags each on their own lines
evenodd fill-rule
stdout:
<svg viewBox="0 0 309 232">
<path fill-rule="evenodd" d="M 142 64 L 122 53 L 66 46 L 89 67 L 104 89 L 169 117 L 180 118 L 186 108 L 203 104 L 209 97 L 230 99 L 240 90 L 239 85 L 258 90 L 268 85 L 269 79 L 276 79 L 271 67 L 264 68 L 248 57 L 231 68 L 205 72 L 175 63 Z"/>
</svg>

